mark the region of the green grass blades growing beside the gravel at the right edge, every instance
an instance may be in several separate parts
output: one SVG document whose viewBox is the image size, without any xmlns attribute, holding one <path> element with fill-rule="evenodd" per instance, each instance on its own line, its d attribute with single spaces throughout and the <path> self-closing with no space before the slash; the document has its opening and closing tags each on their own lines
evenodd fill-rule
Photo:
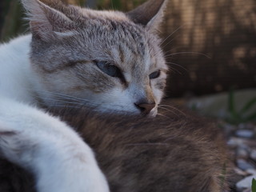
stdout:
<svg viewBox="0 0 256 192">
<path fill-rule="evenodd" d="M 246 102 L 241 110 L 236 110 L 233 89 L 230 90 L 228 97 L 229 116 L 226 118 L 227 122 L 238 124 L 241 122 L 256 121 L 256 111 L 248 114 L 249 110 L 256 105 L 256 98 L 252 98 L 250 101 Z"/>
</svg>

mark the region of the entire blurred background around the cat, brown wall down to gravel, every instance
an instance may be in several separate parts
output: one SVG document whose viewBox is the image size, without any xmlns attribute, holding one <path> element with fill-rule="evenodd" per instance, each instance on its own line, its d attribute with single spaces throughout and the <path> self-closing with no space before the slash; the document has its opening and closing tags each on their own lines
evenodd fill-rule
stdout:
<svg viewBox="0 0 256 192">
<path fill-rule="evenodd" d="M 123 11 L 145 2 L 63 1 Z M 28 32 L 23 17 L 18 0 L 0 1 L 1 42 Z M 239 170 L 234 191 L 250 191 L 243 180 L 248 167 L 256 178 L 256 1 L 169 0 L 161 36 L 170 66 L 166 98 L 220 121 Z"/>
</svg>

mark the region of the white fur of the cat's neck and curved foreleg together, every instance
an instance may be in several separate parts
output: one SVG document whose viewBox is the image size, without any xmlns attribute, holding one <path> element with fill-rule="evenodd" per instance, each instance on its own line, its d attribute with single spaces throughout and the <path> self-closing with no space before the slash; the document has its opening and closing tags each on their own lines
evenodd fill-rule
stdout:
<svg viewBox="0 0 256 192">
<path fill-rule="evenodd" d="M 26 35 L 0 46 L 2 154 L 33 172 L 38 192 L 109 191 L 93 152 L 78 134 L 58 118 L 30 106 L 34 103 L 30 41 Z"/>
</svg>

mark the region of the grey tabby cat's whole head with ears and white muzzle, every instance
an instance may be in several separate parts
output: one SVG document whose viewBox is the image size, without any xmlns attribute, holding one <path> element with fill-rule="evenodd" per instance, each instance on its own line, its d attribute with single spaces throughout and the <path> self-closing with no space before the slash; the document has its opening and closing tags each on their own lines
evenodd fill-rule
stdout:
<svg viewBox="0 0 256 192">
<path fill-rule="evenodd" d="M 157 35 L 166 1 L 128 13 L 22 0 L 30 19 L 35 89 L 46 106 L 157 113 L 166 63 Z"/>
</svg>

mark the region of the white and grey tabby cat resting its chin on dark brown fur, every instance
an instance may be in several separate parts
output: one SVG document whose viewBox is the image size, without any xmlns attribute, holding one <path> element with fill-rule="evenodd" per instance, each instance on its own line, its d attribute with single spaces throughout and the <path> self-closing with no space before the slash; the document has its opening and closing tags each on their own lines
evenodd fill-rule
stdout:
<svg viewBox="0 0 256 192">
<path fill-rule="evenodd" d="M 155 116 L 166 85 L 156 32 L 166 0 L 126 14 L 57 0 L 22 4 L 31 34 L 0 46 L 2 157 L 33 174 L 38 192 L 109 191 L 90 147 L 40 108 Z"/>
</svg>

